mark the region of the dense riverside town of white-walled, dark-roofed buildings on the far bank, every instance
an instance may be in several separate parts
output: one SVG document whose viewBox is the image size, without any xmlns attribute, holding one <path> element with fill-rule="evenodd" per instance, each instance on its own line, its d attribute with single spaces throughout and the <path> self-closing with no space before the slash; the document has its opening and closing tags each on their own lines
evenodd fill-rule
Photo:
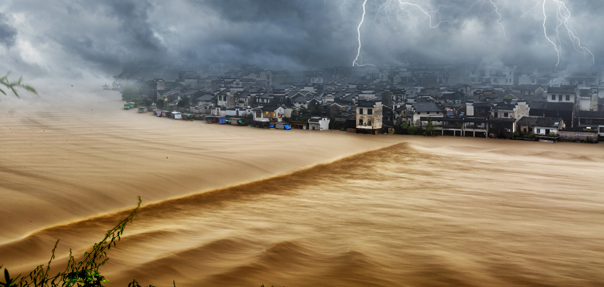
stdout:
<svg viewBox="0 0 604 287">
<path fill-rule="evenodd" d="M 288 122 L 375 134 L 432 122 L 451 136 L 597 140 L 604 136 L 604 82 L 601 70 L 590 69 L 413 64 L 289 72 L 246 65 L 214 75 L 180 72 L 174 89 L 155 78 L 146 96 L 170 104 L 187 96 L 191 113 L 249 117 L 257 127 Z"/>
</svg>

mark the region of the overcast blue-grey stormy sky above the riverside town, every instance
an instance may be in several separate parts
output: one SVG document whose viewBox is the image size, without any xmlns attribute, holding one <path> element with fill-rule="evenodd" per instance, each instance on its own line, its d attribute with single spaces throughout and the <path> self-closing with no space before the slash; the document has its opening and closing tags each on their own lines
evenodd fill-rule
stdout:
<svg viewBox="0 0 604 287">
<path fill-rule="evenodd" d="M 574 49 L 564 22 L 559 40 L 554 39 L 560 1 L 545 1 L 545 27 L 561 51 L 561 63 L 591 63 L 576 39 L 579 51 Z M 363 2 L 3 0 L 0 71 L 107 76 L 132 61 L 246 62 L 272 69 L 350 66 L 358 51 Z M 544 35 L 541 1 L 409 2 L 417 6 L 367 0 L 360 28 L 362 62 L 357 63 L 557 62 L 556 49 Z M 604 1 L 564 2 L 574 36 L 601 65 Z"/>
</svg>

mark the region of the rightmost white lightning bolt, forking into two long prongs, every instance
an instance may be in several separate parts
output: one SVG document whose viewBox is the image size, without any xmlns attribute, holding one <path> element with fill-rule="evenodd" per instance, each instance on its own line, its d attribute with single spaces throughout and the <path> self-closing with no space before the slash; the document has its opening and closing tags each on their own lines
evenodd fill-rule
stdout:
<svg viewBox="0 0 604 287">
<path fill-rule="evenodd" d="M 554 49 L 556 50 L 557 57 L 558 57 L 556 66 L 560 64 L 560 59 L 562 58 L 561 57 L 562 40 L 560 39 L 560 28 L 562 27 L 562 25 L 564 25 L 564 28 L 567 30 L 568 38 L 573 43 L 574 50 L 583 54 L 583 57 L 587 57 L 588 54 L 591 55 L 591 63 L 596 64 L 596 58 L 594 57 L 594 54 L 592 54 L 590 49 L 582 46 L 581 40 L 579 39 L 579 37 L 575 36 L 573 27 L 570 23 L 570 17 L 571 17 L 570 11 L 568 10 L 568 8 L 564 4 L 564 2 L 562 2 L 561 0 L 549 0 L 549 1 L 553 2 L 554 6 L 556 7 L 556 29 L 555 29 L 555 33 L 553 36 L 550 37 L 547 35 L 547 28 L 545 27 L 545 24 L 547 22 L 547 13 L 545 13 L 545 2 L 547 2 L 547 1 L 548 0 L 543 0 L 543 3 L 542 3 L 543 31 L 544 31 L 545 39 L 547 39 L 552 45 L 554 45 Z M 579 48 L 577 48 L 577 46 Z M 564 60 L 564 58 L 562 58 L 562 60 Z"/>
</svg>

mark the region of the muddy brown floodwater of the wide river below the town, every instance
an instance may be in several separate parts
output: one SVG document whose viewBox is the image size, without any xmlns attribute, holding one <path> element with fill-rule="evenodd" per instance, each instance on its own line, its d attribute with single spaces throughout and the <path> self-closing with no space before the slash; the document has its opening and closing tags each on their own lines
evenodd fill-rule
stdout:
<svg viewBox="0 0 604 287">
<path fill-rule="evenodd" d="M 289 133 L 119 104 L 0 107 L 11 273 L 57 239 L 57 266 L 83 253 L 140 195 L 108 286 L 604 286 L 603 144 Z"/>
</svg>

